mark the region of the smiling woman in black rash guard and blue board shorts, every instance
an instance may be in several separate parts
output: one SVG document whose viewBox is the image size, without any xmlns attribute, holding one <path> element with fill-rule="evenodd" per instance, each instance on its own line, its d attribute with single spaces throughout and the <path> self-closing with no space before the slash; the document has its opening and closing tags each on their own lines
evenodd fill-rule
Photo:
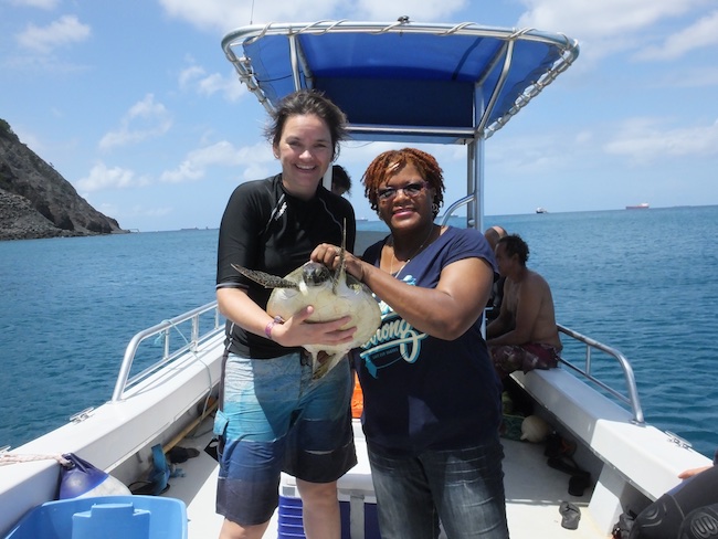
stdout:
<svg viewBox="0 0 718 539">
<path fill-rule="evenodd" d="M 351 340 L 350 317 L 307 324 L 306 307 L 287 320 L 266 313 L 270 289 L 232 264 L 286 275 L 323 242 L 347 249 L 356 236 L 351 204 L 321 179 L 345 136 L 345 115 L 318 93 L 283 99 L 267 128 L 282 172 L 240 184 L 232 193 L 218 247 L 217 299 L 226 321 L 221 382 L 217 511 L 222 539 L 261 538 L 278 504 L 282 471 L 297 478 L 307 538 L 338 538 L 336 482 L 356 463 L 351 430 L 352 376 L 344 361 L 312 379 L 307 344 Z"/>
</svg>

